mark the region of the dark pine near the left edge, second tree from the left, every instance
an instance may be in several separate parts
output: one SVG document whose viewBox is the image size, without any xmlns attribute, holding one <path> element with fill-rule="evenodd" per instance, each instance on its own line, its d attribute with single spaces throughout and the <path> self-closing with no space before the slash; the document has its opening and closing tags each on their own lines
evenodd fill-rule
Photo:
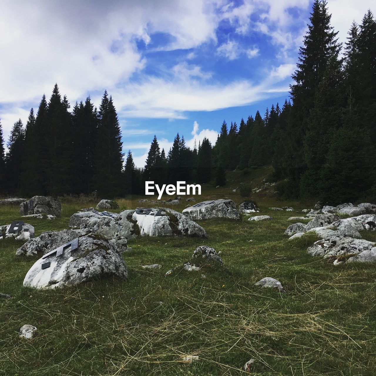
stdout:
<svg viewBox="0 0 376 376">
<path fill-rule="evenodd" d="M 6 191 L 18 194 L 20 191 L 20 176 L 24 164 L 24 128 L 19 119 L 11 130 L 7 143 L 8 153 L 5 158 Z"/>
</svg>

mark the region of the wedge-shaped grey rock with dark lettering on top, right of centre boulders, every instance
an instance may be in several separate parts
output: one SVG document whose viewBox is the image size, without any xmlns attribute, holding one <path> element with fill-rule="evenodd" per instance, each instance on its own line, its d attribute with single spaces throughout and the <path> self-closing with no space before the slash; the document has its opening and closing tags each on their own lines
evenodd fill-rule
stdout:
<svg viewBox="0 0 376 376">
<path fill-rule="evenodd" d="M 240 214 L 232 200 L 203 201 L 183 210 L 183 214 L 191 220 L 211 218 L 240 219 Z"/>
</svg>

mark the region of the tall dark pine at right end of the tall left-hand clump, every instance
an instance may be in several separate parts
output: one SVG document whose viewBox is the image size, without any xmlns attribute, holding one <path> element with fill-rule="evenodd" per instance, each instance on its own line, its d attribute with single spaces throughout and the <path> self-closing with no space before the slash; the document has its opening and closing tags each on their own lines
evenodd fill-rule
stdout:
<svg viewBox="0 0 376 376">
<path fill-rule="evenodd" d="M 93 187 L 101 197 L 120 196 L 124 191 L 121 130 L 112 97 L 104 92 L 99 107 Z"/>
</svg>

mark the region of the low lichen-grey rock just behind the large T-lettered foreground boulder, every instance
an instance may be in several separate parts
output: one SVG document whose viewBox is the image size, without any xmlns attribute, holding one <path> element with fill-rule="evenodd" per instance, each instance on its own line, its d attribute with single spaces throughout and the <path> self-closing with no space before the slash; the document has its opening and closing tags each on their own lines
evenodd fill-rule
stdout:
<svg viewBox="0 0 376 376">
<path fill-rule="evenodd" d="M 42 256 L 77 238 L 77 236 L 77 232 L 73 230 L 42 232 L 41 235 L 18 248 L 16 256 Z"/>
</svg>

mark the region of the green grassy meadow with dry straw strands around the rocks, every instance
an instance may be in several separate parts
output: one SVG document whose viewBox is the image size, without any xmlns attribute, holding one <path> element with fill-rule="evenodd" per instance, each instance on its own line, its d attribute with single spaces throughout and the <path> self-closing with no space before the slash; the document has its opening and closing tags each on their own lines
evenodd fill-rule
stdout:
<svg viewBox="0 0 376 376">
<path fill-rule="evenodd" d="M 233 173 L 225 187 L 203 186 L 196 199 L 229 197 L 239 204 L 242 198 L 232 192 L 238 182 L 256 186 L 267 172 Z M 118 212 L 135 208 L 138 198 L 118 200 Z M 246 374 L 242 367 L 250 358 L 253 375 L 376 374 L 375 265 L 333 266 L 306 253 L 315 237 L 288 241 L 283 233 L 294 223 L 288 217 L 301 215 L 312 203 L 278 202 L 266 193 L 253 199 L 260 214 L 273 221 L 208 220 L 199 222 L 206 240 L 129 241 L 133 251 L 123 254 L 130 274 L 126 282 L 24 288 L 37 258 L 18 258 L 20 243 L 0 241 L 0 292 L 12 296 L 0 298 L 0 375 L 238 375 Z M 74 212 L 95 205 L 67 198 L 61 218 L 28 223 L 36 236 L 65 229 Z M 17 219 L 18 208 L 0 207 L 0 224 Z M 362 236 L 376 241 L 376 233 Z M 202 244 L 221 251 L 223 269 L 207 266 L 164 276 Z M 141 268 L 153 263 L 162 264 L 161 270 Z M 288 293 L 254 286 L 267 276 L 279 279 Z M 39 335 L 21 340 L 23 324 L 38 327 Z M 199 360 L 185 363 L 185 355 Z"/>
</svg>

